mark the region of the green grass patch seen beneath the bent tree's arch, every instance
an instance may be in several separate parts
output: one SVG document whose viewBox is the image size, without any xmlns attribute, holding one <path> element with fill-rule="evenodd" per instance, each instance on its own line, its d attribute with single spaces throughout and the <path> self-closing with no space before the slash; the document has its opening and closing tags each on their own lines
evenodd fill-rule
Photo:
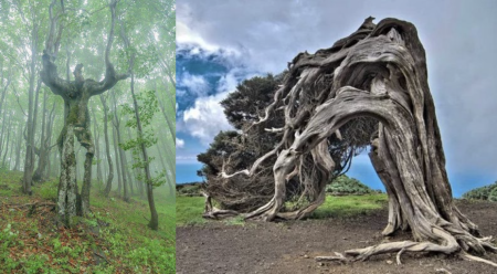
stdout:
<svg viewBox="0 0 497 274">
<path fill-rule="evenodd" d="M 367 214 L 371 210 L 381 209 L 387 204 L 384 193 L 364 196 L 327 196 L 326 201 L 313 212 L 311 219 L 353 217 Z"/>
</svg>

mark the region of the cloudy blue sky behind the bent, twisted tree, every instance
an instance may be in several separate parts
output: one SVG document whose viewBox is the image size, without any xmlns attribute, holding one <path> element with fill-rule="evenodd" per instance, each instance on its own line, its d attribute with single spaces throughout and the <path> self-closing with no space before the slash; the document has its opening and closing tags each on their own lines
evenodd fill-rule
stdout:
<svg viewBox="0 0 497 274">
<path fill-rule="evenodd" d="M 177 14 L 177 182 L 199 180 L 197 155 L 230 129 L 219 105 L 244 78 L 279 73 L 297 53 L 329 48 L 364 18 L 413 22 L 454 196 L 497 180 L 497 1 L 199 1 Z M 367 155 L 349 175 L 382 189 Z"/>
</svg>

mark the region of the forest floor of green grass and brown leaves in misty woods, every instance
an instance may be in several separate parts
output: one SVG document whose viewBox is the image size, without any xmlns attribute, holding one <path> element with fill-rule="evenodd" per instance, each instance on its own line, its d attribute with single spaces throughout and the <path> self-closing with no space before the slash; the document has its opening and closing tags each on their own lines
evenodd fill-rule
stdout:
<svg viewBox="0 0 497 274">
<path fill-rule="evenodd" d="M 96 183 L 94 215 L 57 229 L 57 180 L 35 185 L 28 197 L 21 178 L 0 170 L 0 273 L 175 273 L 176 207 L 166 187 L 155 190 L 158 231 L 147 226 L 146 200 L 105 198 Z"/>
</svg>

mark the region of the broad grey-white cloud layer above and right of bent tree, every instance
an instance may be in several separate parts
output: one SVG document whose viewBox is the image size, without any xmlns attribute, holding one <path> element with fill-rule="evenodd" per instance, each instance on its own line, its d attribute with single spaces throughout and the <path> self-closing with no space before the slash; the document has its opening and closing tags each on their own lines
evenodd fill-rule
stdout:
<svg viewBox="0 0 497 274">
<path fill-rule="evenodd" d="M 378 0 L 371 6 L 362 0 L 340 4 L 329 0 L 182 0 L 177 4 L 179 49 L 190 49 L 190 54 L 225 49 L 239 54 L 228 62 L 263 73 L 279 73 L 298 52 L 331 46 L 368 15 L 376 17 L 376 22 L 389 17 L 413 22 L 426 50 L 447 166 L 454 170 L 494 168 L 497 131 L 490 125 L 497 120 L 493 115 L 497 36 L 485 34 L 497 33 L 496 1 Z M 230 77 L 220 84 L 233 86 Z M 221 109 L 219 115 L 223 118 Z M 461 127 L 467 130 L 461 134 Z"/>
</svg>

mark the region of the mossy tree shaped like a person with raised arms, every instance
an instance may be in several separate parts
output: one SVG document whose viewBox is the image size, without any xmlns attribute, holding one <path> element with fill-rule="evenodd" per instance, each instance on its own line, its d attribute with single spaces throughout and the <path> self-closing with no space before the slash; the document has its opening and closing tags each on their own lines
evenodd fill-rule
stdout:
<svg viewBox="0 0 497 274">
<path fill-rule="evenodd" d="M 74 68 L 74 81 L 63 80 L 57 75 L 57 67 L 52 61 L 51 46 L 44 51 L 42 56 L 43 70 L 41 77 L 50 89 L 64 99 L 64 128 L 59 137 L 57 145 L 61 152 L 61 178 L 59 183 L 57 213 L 66 225 L 71 225 L 72 217 L 85 215 L 89 212 L 89 188 L 92 178 L 92 160 L 94 156 L 94 144 L 91 134 L 91 118 L 88 101 L 92 96 L 99 95 L 112 88 L 118 81 L 128 77 L 128 74 L 116 73 L 109 61 L 110 49 L 114 41 L 114 27 L 116 21 L 116 4 L 113 0 L 109 4 L 112 13 L 110 31 L 107 36 L 105 50 L 105 77 L 96 82 L 83 77 L 83 64 Z M 50 44 L 50 43 L 47 43 Z M 76 157 L 74 154 L 74 136 L 86 149 L 84 164 L 83 188 L 81 200 L 76 187 Z M 76 210 L 76 209 L 80 209 Z"/>
</svg>

